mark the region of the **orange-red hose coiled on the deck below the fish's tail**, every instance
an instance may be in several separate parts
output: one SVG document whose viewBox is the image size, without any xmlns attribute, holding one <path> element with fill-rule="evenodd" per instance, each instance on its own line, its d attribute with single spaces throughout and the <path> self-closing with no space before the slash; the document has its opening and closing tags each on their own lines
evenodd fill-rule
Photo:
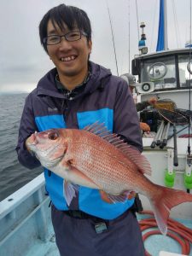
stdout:
<svg viewBox="0 0 192 256">
<path fill-rule="evenodd" d="M 141 214 L 147 214 L 154 216 L 154 213 L 151 211 L 143 211 Z M 139 221 L 139 225 L 142 231 L 148 230 L 151 228 L 157 228 L 157 224 L 154 218 L 143 218 Z M 173 240 L 177 241 L 182 249 L 182 253 L 185 255 L 189 255 L 190 253 L 190 245 L 189 242 L 192 243 L 192 230 L 180 224 L 176 220 L 172 218 L 168 218 L 167 220 L 167 234 L 166 236 L 172 237 Z M 145 234 L 143 234 L 143 241 L 145 241 L 148 236 L 152 235 L 162 235 L 160 230 L 149 230 Z M 150 254 L 145 250 L 145 255 L 150 256 Z"/>
</svg>

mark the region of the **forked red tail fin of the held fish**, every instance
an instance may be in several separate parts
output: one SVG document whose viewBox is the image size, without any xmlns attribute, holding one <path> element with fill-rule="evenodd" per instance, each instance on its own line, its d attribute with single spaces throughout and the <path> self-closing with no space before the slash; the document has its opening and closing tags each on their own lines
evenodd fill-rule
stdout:
<svg viewBox="0 0 192 256">
<path fill-rule="evenodd" d="M 167 232 L 167 219 L 172 207 L 176 207 L 186 201 L 192 202 L 191 194 L 182 190 L 169 189 L 159 185 L 156 187 L 155 185 L 154 193 L 150 196 L 150 203 L 157 225 L 163 235 L 166 235 Z"/>
</svg>

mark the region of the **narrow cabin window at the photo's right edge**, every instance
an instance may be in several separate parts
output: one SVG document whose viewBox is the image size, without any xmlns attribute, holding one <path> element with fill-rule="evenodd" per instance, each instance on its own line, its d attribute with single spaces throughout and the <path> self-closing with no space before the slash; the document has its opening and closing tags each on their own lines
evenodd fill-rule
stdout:
<svg viewBox="0 0 192 256">
<path fill-rule="evenodd" d="M 189 61 L 189 55 L 178 56 L 178 71 L 180 87 L 189 87 L 189 80 L 192 78 L 192 61 Z"/>
</svg>

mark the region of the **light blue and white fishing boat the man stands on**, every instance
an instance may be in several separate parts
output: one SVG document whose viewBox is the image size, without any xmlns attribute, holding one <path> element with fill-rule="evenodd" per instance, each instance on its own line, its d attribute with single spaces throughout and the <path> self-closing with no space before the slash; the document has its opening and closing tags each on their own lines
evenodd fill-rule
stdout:
<svg viewBox="0 0 192 256">
<path fill-rule="evenodd" d="M 161 8 L 163 5 L 165 2 L 160 1 Z M 145 41 L 143 38 L 144 33 L 141 41 Z M 152 167 L 152 176 L 148 178 L 154 183 L 191 193 L 192 158 L 189 145 L 192 140 L 188 136 L 189 132 L 183 130 L 182 137 L 179 137 L 181 132 L 175 131 L 178 128 L 183 129 L 178 127 L 183 123 L 187 130 L 190 131 L 188 127 L 191 128 L 191 48 L 168 50 L 165 44 L 160 47 L 154 54 L 147 54 L 144 42 L 140 42 L 140 55 L 132 60 L 132 74 L 137 75 L 139 79 L 138 100 L 143 102 L 152 96 L 159 99 L 159 108 L 149 108 L 140 113 L 141 119 L 154 131 L 154 136 L 143 135 L 143 154 Z M 172 115 L 167 114 L 170 112 Z M 181 117 L 187 121 L 182 122 Z M 177 119 L 181 122 L 178 123 Z M 163 140 L 166 142 L 163 143 Z M 182 255 L 181 253 L 192 255 L 191 244 L 185 241 L 186 238 L 192 240 L 192 204 L 184 203 L 172 209 L 173 220 L 169 220 L 170 225 L 176 228 L 176 232 L 185 236 L 184 239 L 180 239 L 181 235 L 172 239 L 172 234 L 156 235 L 157 229 L 153 226 L 148 199 L 142 195 L 140 198 L 143 212 L 137 213 L 137 218 L 141 222 L 148 253 L 153 256 Z M 49 196 L 44 188 L 44 174 L 0 202 L 0 226 L 0 256 L 59 255 L 51 224 Z M 188 228 L 187 231 L 185 227 Z M 179 241 L 176 241 L 176 238 Z M 117 256 L 120 256 L 120 252 Z"/>
</svg>

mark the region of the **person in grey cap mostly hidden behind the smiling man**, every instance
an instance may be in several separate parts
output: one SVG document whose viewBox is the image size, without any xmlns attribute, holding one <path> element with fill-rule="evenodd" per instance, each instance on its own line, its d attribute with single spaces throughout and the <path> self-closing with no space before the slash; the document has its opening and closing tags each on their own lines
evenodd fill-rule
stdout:
<svg viewBox="0 0 192 256">
<path fill-rule="evenodd" d="M 129 88 L 131 90 L 131 94 L 133 94 L 133 91 L 137 86 L 135 76 L 132 75 L 131 73 L 125 73 L 125 74 L 121 75 L 120 77 L 127 82 L 127 84 L 129 85 Z M 147 108 L 148 106 L 151 106 L 151 105 L 153 106 L 156 102 L 157 102 L 157 99 L 154 97 L 150 98 L 146 102 L 136 102 L 135 101 L 137 112 L 142 111 L 144 108 Z M 143 122 L 140 122 L 140 128 L 143 131 L 150 131 L 150 126 Z"/>
</svg>

